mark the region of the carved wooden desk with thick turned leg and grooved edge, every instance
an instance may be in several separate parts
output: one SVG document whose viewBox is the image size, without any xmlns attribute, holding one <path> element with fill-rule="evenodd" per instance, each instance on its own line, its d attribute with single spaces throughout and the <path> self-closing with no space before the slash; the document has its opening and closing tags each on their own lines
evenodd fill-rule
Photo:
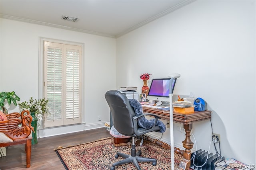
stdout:
<svg viewBox="0 0 256 170">
<path fill-rule="evenodd" d="M 163 111 L 161 109 L 156 109 L 152 107 L 146 107 L 142 105 L 142 109 L 144 113 L 154 113 L 158 115 L 161 119 L 170 121 L 170 112 Z M 173 122 L 183 124 L 185 129 L 185 140 L 182 141 L 183 147 L 185 150 L 180 150 L 179 148 L 174 147 L 174 152 L 177 154 L 181 154 L 183 156 L 182 161 L 178 168 L 175 170 L 188 170 L 190 168 L 190 159 L 191 159 L 191 150 L 193 148 L 194 143 L 190 139 L 190 132 L 192 129 L 192 123 L 211 119 L 212 111 L 195 111 L 195 113 L 176 113 L 173 112 Z"/>
</svg>

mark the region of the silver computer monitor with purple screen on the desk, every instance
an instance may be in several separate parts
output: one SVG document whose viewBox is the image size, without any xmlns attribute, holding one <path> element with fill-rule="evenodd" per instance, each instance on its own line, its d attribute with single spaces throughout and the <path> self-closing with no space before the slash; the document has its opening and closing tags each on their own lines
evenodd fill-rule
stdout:
<svg viewBox="0 0 256 170">
<path fill-rule="evenodd" d="M 172 82 L 172 92 L 176 83 L 176 78 Z M 158 100 L 169 102 L 169 88 L 170 88 L 170 78 L 156 78 L 152 79 L 149 91 L 148 100 Z"/>
</svg>

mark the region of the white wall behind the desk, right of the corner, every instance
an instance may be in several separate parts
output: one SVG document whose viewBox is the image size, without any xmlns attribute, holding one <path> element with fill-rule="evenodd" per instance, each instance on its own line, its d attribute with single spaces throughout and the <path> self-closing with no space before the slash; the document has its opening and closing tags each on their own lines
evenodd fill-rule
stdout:
<svg viewBox="0 0 256 170">
<path fill-rule="evenodd" d="M 116 87 L 137 86 L 140 91 L 140 74 L 167 78 L 180 73 L 174 94 L 193 92 L 207 102 L 222 156 L 256 164 L 255 22 L 254 0 L 188 4 L 117 39 Z M 177 126 L 176 145 L 184 140 Z M 208 150 L 210 121 L 194 123 L 192 133 L 197 149 Z M 163 139 L 169 134 L 167 130 Z M 211 151 L 215 153 L 213 145 Z"/>
</svg>

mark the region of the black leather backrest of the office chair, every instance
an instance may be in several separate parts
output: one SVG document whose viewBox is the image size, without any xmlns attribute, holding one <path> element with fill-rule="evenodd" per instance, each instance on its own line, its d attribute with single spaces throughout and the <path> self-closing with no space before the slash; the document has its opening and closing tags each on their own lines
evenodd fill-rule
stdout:
<svg viewBox="0 0 256 170">
<path fill-rule="evenodd" d="M 132 117 L 136 114 L 126 95 L 117 90 L 110 90 L 106 92 L 105 98 L 110 107 L 112 121 L 116 130 L 122 135 L 136 136 L 132 121 Z"/>
</svg>

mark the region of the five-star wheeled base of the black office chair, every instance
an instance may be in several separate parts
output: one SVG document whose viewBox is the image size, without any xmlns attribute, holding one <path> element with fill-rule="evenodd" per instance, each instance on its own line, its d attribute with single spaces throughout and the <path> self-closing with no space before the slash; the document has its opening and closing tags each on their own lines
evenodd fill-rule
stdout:
<svg viewBox="0 0 256 170">
<path fill-rule="evenodd" d="M 138 152 L 136 152 L 135 145 L 132 145 L 131 155 L 117 152 L 115 155 L 115 158 L 122 156 L 125 159 L 113 163 L 112 167 L 110 167 L 110 170 L 114 170 L 115 166 L 127 164 L 127 163 L 133 163 L 137 170 L 141 170 L 138 162 L 152 162 L 152 165 L 156 166 L 156 159 L 144 158 L 144 157 L 140 157 L 140 155 L 141 155 L 141 150 L 138 150 Z"/>
</svg>

